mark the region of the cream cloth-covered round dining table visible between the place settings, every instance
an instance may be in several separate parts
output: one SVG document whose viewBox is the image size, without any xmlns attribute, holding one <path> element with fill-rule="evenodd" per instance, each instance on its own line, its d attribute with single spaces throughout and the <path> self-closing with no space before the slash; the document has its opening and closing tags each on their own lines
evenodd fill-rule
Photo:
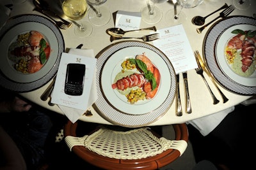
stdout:
<svg viewBox="0 0 256 170">
<path fill-rule="evenodd" d="M 54 2 L 48 1 L 52 6 Z M 56 1 L 57 2 L 57 1 Z M 55 3 L 56 3 L 55 2 Z M 3 0 L 1 3 L 8 4 L 8 0 Z M 195 17 L 196 15 L 200 16 L 206 16 L 209 13 L 211 13 L 214 10 L 217 10 L 223 4 L 227 3 L 228 5 L 232 4 L 232 0 L 225 0 L 225 1 L 216 1 L 216 0 L 204 0 L 200 5 L 196 6 L 195 8 L 183 8 L 182 11 L 186 15 L 186 21 L 182 22 L 182 25 L 184 27 L 184 30 L 186 32 L 186 36 L 188 37 L 189 43 L 191 45 L 191 48 L 193 51 L 198 50 L 198 52 L 204 56 L 204 41 L 205 36 L 207 35 L 207 31 L 211 29 L 211 26 L 214 24 L 210 24 L 208 27 L 205 28 L 204 31 L 202 31 L 201 34 L 198 34 L 196 32 L 196 28 L 200 27 L 197 25 L 193 25 L 191 23 L 191 19 Z M 255 6 L 256 1 L 250 1 L 251 6 L 247 10 L 237 10 L 235 9 L 230 16 L 247 16 L 247 17 L 253 17 L 253 13 L 255 15 Z M 106 3 L 102 4 L 102 6 L 108 7 L 109 11 L 111 11 L 111 19 L 109 20 L 108 24 L 102 25 L 102 26 L 93 26 L 93 32 L 90 34 L 90 36 L 86 38 L 79 38 L 74 34 L 73 25 L 72 27 L 68 29 L 60 29 L 61 34 L 63 36 L 64 42 L 65 42 L 65 48 L 76 48 L 77 45 L 83 44 L 82 48 L 88 48 L 92 49 L 95 53 L 95 56 L 97 53 L 99 53 L 102 49 L 106 48 L 106 46 L 109 46 L 113 43 L 116 43 L 118 41 L 124 41 L 116 40 L 111 42 L 109 40 L 109 34 L 106 33 L 106 30 L 115 27 L 115 13 L 116 11 L 131 11 L 131 12 L 140 12 L 141 8 L 145 7 L 146 1 L 145 0 L 108 0 Z M 161 9 L 164 14 L 168 10 L 173 10 L 173 3 L 171 1 L 167 1 L 165 3 L 157 3 L 156 6 Z M 15 15 L 22 15 L 22 14 L 33 14 L 33 15 L 43 15 L 42 13 L 39 13 L 38 11 L 33 10 L 35 8 L 35 5 L 33 4 L 32 0 L 26 0 L 25 3 L 20 4 L 13 4 L 11 16 L 13 17 Z M 58 6 L 55 6 L 56 11 L 61 13 L 61 9 L 58 8 Z M 180 9 L 180 6 L 178 5 L 178 11 Z M 220 11 L 217 13 L 214 13 L 213 15 L 207 17 L 205 20 L 205 23 L 210 22 L 214 18 L 218 17 L 220 14 Z M 170 16 L 172 17 L 172 16 Z M 67 19 L 67 17 L 64 17 Z M 67 19 L 68 20 L 68 19 Z M 84 17 L 84 20 L 88 20 L 88 16 Z M 219 18 L 218 20 L 221 20 Z M 147 24 L 143 20 L 141 20 L 140 28 L 145 27 L 152 27 L 156 26 L 157 29 L 163 29 L 166 27 L 172 27 L 175 23 L 167 23 L 164 20 L 164 17 L 158 22 L 157 24 Z M 134 39 L 133 39 L 134 40 Z M 136 41 L 141 41 L 138 39 L 135 39 Z M 147 42 L 150 45 L 153 45 L 152 41 Z M 214 46 L 212 46 L 213 50 Z M 53 78 L 52 78 L 53 79 Z M 43 94 L 45 89 L 50 85 L 52 82 L 52 79 L 49 80 L 45 85 L 42 87 L 32 90 L 30 92 L 20 92 L 19 94 L 29 101 L 32 101 L 33 103 L 36 103 L 44 108 L 47 108 L 48 110 L 55 111 L 56 113 L 60 113 L 64 115 L 64 113 L 60 110 L 58 107 L 58 104 L 54 104 L 54 106 L 50 106 L 48 104 L 49 99 L 47 101 L 42 101 L 40 99 L 40 96 Z M 212 92 L 215 94 L 215 96 L 220 100 L 220 103 L 218 104 L 212 104 L 212 98 L 209 94 L 209 91 L 207 87 L 205 86 L 205 83 L 202 79 L 202 77 L 198 74 L 196 74 L 195 69 L 188 70 L 188 89 L 189 89 L 189 96 L 191 100 L 191 113 L 185 113 L 183 111 L 183 115 L 178 117 L 175 113 L 175 100 L 171 103 L 170 108 L 166 111 L 166 113 L 161 114 L 161 117 L 157 117 L 154 121 L 145 124 L 148 126 L 153 125 L 170 125 L 170 124 L 182 124 L 184 122 L 188 122 L 189 120 L 193 120 L 196 118 L 205 117 L 207 115 L 211 115 L 213 113 L 216 113 L 218 111 L 225 110 L 227 108 L 230 108 L 232 106 L 236 106 L 239 103 L 242 103 L 243 101 L 246 101 L 247 99 L 250 99 L 250 97 L 253 97 L 255 94 L 252 95 L 244 95 L 244 94 L 237 94 L 235 92 L 232 92 L 232 90 L 228 90 L 227 88 L 223 87 L 221 83 L 218 83 L 218 87 L 220 90 L 225 94 L 225 96 L 228 98 L 228 101 L 226 103 L 223 103 L 223 100 L 221 99 L 221 95 L 214 87 L 214 84 L 210 80 L 209 76 L 205 74 L 205 79 L 209 83 L 209 86 L 212 89 Z M 182 104 L 182 108 L 185 108 L 185 92 L 184 88 L 182 88 L 184 85 L 183 81 L 180 81 L 180 101 Z M 82 120 L 84 122 L 93 122 L 98 124 L 109 124 L 109 125 L 118 125 L 115 124 L 115 122 L 112 122 L 111 120 L 108 120 L 108 118 L 104 117 L 100 113 L 97 113 L 93 106 L 90 107 L 90 110 L 92 111 L 92 115 L 90 117 L 86 115 L 82 115 L 79 120 Z"/>
</svg>

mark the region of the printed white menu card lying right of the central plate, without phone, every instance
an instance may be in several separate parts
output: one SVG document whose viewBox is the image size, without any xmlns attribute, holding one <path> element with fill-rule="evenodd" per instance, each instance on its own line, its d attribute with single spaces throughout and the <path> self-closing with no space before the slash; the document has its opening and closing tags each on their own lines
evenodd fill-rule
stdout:
<svg viewBox="0 0 256 170">
<path fill-rule="evenodd" d="M 160 29 L 160 38 L 153 41 L 172 62 L 175 73 L 197 68 L 197 63 L 183 25 Z"/>
</svg>

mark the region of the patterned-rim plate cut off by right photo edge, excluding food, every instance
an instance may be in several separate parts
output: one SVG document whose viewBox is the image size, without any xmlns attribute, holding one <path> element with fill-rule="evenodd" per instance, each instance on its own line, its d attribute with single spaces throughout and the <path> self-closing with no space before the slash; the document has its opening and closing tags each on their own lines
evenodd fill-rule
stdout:
<svg viewBox="0 0 256 170">
<path fill-rule="evenodd" d="M 204 39 L 204 57 L 214 78 L 225 89 L 236 94 L 251 96 L 256 94 L 256 73 L 251 76 L 239 76 L 230 68 L 225 58 L 225 46 L 235 34 L 235 29 L 255 30 L 256 20 L 252 17 L 232 16 L 216 22 Z"/>
</svg>

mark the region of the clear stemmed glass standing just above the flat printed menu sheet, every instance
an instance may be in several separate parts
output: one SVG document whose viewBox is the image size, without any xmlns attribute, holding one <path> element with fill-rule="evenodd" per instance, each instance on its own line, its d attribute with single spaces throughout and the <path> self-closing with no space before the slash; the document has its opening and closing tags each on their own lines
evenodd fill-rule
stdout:
<svg viewBox="0 0 256 170">
<path fill-rule="evenodd" d="M 186 6 L 186 0 L 172 0 L 174 9 L 168 10 L 165 15 L 165 20 L 168 24 L 182 24 L 182 22 L 187 20 L 185 13 L 182 11 L 184 6 Z M 180 10 L 177 10 L 177 4 L 180 4 Z"/>
</svg>

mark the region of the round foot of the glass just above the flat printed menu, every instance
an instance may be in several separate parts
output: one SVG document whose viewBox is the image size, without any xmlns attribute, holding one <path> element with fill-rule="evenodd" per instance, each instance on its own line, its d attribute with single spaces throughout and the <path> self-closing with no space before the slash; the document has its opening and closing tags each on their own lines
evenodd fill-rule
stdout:
<svg viewBox="0 0 256 170">
<path fill-rule="evenodd" d="M 179 25 L 179 24 L 182 24 L 182 23 L 186 22 L 187 17 L 185 15 L 185 13 L 180 11 L 180 13 L 178 13 L 178 14 L 179 14 L 179 16 L 175 18 L 174 10 L 167 11 L 166 15 L 165 15 L 166 23 L 170 24 L 170 25 Z"/>
</svg>

